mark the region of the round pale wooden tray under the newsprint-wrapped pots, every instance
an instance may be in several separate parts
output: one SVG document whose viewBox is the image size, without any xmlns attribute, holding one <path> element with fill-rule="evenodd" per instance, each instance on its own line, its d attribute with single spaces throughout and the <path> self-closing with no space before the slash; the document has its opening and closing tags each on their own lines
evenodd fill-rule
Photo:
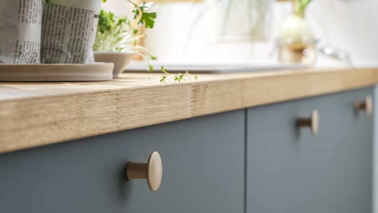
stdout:
<svg viewBox="0 0 378 213">
<path fill-rule="evenodd" d="M 108 81 L 113 63 L 0 64 L 0 81 Z"/>
</svg>

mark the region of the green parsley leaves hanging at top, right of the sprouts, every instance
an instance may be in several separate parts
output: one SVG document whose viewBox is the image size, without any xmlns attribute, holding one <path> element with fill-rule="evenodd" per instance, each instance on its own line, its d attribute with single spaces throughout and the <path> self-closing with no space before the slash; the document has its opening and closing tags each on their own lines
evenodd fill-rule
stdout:
<svg viewBox="0 0 378 213">
<path fill-rule="evenodd" d="M 133 19 L 134 20 L 138 20 L 138 25 L 139 26 L 143 26 L 145 28 L 154 28 L 154 25 L 155 25 L 155 19 L 157 17 L 157 14 L 156 12 L 146 12 L 154 3 L 153 2 L 148 2 L 148 3 L 145 3 L 143 2 L 142 4 L 140 5 L 135 5 L 135 8 L 133 10 L 133 13 L 134 13 L 134 16 L 133 16 Z"/>
</svg>

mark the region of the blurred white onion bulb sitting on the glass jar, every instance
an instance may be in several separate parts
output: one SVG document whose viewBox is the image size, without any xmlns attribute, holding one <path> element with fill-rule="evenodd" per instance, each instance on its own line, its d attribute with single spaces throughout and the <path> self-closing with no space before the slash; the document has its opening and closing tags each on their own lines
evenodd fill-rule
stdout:
<svg viewBox="0 0 378 213">
<path fill-rule="evenodd" d="M 306 20 L 299 15 L 290 15 L 281 28 L 281 39 L 284 41 L 312 41 L 313 34 Z"/>
</svg>

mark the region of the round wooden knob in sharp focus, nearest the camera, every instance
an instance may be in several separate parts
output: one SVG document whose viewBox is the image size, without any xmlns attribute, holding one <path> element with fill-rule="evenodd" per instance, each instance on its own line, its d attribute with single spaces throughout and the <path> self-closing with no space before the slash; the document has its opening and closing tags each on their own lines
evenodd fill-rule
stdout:
<svg viewBox="0 0 378 213">
<path fill-rule="evenodd" d="M 126 165 L 126 176 L 128 180 L 147 179 L 148 187 L 157 191 L 161 184 L 163 165 L 158 152 L 149 155 L 147 163 L 129 161 Z"/>
</svg>

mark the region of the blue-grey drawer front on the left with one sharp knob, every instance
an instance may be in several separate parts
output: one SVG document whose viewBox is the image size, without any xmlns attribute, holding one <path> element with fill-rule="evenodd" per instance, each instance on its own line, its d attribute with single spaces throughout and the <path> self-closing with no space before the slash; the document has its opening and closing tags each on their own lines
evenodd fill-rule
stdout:
<svg viewBox="0 0 378 213">
<path fill-rule="evenodd" d="M 243 212 L 244 111 L 0 155 L 2 212 Z M 158 151 L 160 189 L 125 178 Z"/>
</svg>

